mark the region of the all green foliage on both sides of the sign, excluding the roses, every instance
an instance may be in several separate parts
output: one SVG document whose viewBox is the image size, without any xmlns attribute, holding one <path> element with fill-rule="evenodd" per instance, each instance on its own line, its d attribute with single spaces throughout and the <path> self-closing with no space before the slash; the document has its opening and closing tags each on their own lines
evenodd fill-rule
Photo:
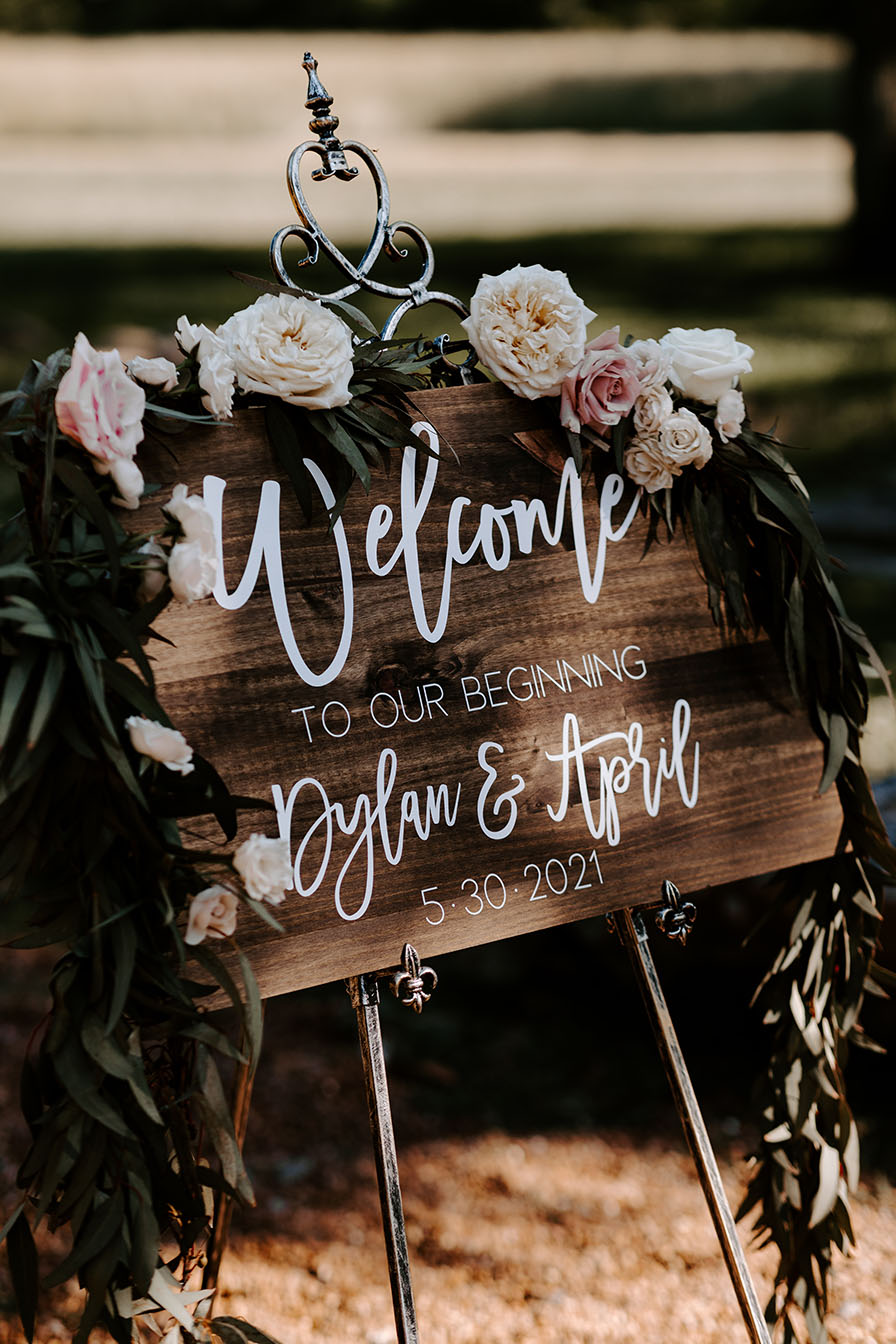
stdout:
<svg viewBox="0 0 896 1344">
<path fill-rule="evenodd" d="M 357 333 L 352 401 L 312 411 L 261 399 L 306 517 L 305 460 L 325 470 L 332 523 L 353 481 L 368 489 L 371 468 L 387 469 L 407 442 L 414 390 L 453 376 L 424 343 L 377 340 L 364 314 L 334 306 Z M 177 775 L 130 747 L 128 715 L 169 722 L 150 652 L 171 590 L 141 594 L 146 535 L 122 526 L 109 477 L 90 472 L 81 448 L 58 431 L 54 396 L 67 363 L 64 351 L 35 362 L 0 398 L 3 461 L 23 501 L 0 532 L 0 938 L 63 949 L 50 1011 L 23 1064 L 31 1145 L 19 1171 L 23 1198 L 1 1238 L 28 1339 L 39 1285 L 34 1228 L 46 1220 L 70 1230 L 70 1251 L 44 1285 L 77 1274 L 86 1293 L 75 1344 L 97 1324 L 126 1344 L 140 1313 L 163 1308 L 200 1339 L 269 1344 L 244 1321 L 203 1318 L 203 1294 L 181 1292 L 208 1243 L 214 1196 L 251 1200 L 218 1062 L 251 1068 L 261 1046 L 247 958 L 236 946 L 236 982 L 234 962 L 184 943 L 181 917 L 192 895 L 220 880 L 277 923 L 239 887 L 226 848 L 240 809 L 266 804 L 234 797 L 199 755 L 192 774 Z M 175 391 L 148 402 L 148 434 L 176 445 L 177 431 L 201 419 L 199 395 L 189 356 Z M 713 433 L 705 406 L 684 405 Z M 614 429 L 610 452 L 578 435 L 570 449 L 599 482 L 623 469 L 627 433 L 626 422 Z M 756 1214 L 758 1235 L 779 1251 L 770 1321 L 790 1344 L 802 1314 L 821 1344 L 832 1249 L 852 1241 L 857 1177 L 844 1066 L 849 1043 L 866 1044 L 864 995 L 881 992 L 875 892 L 881 876 L 896 876 L 858 754 L 862 668 L 884 680 L 885 672 L 844 612 L 805 489 L 772 437 L 747 426 L 721 444 L 713 433 L 704 469 L 684 470 L 641 507 L 647 546 L 676 530 L 693 543 L 720 630 L 771 637 L 823 743 L 819 788 L 836 786 L 842 805 L 838 852 L 789 878 L 790 925 L 756 992 L 771 1059 L 759 1102 L 763 1138 L 740 1211 Z M 176 524 L 164 531 L 176 535 Z M 196 817 L 216 820 L 222 848 L 189 835 Z M 203 1008 L 210 988 L 223 989 L 235 1009 L 232 1039 Z"/>
</svg>

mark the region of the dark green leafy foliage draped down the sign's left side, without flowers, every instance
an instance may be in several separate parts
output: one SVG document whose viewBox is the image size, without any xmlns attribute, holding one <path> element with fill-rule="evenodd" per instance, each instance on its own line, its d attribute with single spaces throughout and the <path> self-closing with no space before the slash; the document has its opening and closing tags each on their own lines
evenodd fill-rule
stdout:
<svg viewBox="0 0 896 1344">
<path fill-rule="evenodd" d="M 141 550 L 146 534 L 122 526 L 110 477 L 58 430 L 55 391 L 69 363 L 67 351 L 34 362 L 0 398 L 0 452 L 23 504 L 0 531 L 0 939 L 63 949 L 23 1063 L 31 1144 L 0 1239 L 28 1340 L 34 1231 L 46 1220 L 69 1228 L 70 1251 L 43 1286 L 77 1274 L 86 1293 L 75 1344 L 97 1324 L 125 1344 L 150 1309 L 171 1310 L 199 1337 L 211 1329 L 224 1344 L 263 1341 L 230 1317 L 203 1322 L 199 1305 L 193 1320 L 183 1304 L 207 1294 L 179 1292 L 201 1263 L 214 1198 L 253 1199 L 219 1062 L 253 1068 L 262 1021 L 244 954 L 236 946 L 235 980 L 232 962 L 207 943 L 185 945 L 180 917 L 218 880 L 278 927 L 242 890 L 226 849 L 239 812 L 270 804 L 232 796 L 196 753 L 181 775 L 130 746 L 129 715 L 171 726 L 150 650 L 172 594 L 165 583 L 144 598 L 154 563 Z M 306 511 L 302 457 L 328 460 L 336 517 L 355 477 L 369 485 L 368 460 L 383 465 L 407 438 L 403 398 L 433 380 L 431 363 L 422 344 L 368 337 L 349 406 L 308 411 L 263 398 L 275 454 Z M 189 356 L 176 390 L 148 401 L 148 437 L 171 449 L 189 422 L 207 422 L 195 414 L 199 395 Z M 220 849 L 189 836 L 197 817 L 215 818 Z M 234 1039 L 204 1011 L 212 989 L 235 1009 Z"/>
</svg>

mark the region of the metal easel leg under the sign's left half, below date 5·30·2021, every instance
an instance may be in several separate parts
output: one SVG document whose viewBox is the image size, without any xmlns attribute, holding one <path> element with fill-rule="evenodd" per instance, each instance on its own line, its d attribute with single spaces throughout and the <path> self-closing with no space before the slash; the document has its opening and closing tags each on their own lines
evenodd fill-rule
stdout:
<svg viewBox="0 0 896 1344">
<path fill-rule="evenodd" d="M 386 1255 L 388 1258 L 398 1344 L 418 1344 L 416 1312 L 414 1309 L 411 1267 L 404 1232 L 404 1210 L 402 1207 L 402 1189 L 398 1180 L 395 1136 L 392 1133 L 392 1114 L 390 1110 L 388 1083 L 386 1081 L 376 976 L 355 976 L 348 981 L 348 992 L 357 1016 L 357 1035 L 364 1063 L 367 1109 L 371 1117 L 371 1134 L 373 1137 L 376 1183 L 379 1185 L 380 1208 L 383 1211 L 383 1234 L 386 1236 Z"/>
</svg>

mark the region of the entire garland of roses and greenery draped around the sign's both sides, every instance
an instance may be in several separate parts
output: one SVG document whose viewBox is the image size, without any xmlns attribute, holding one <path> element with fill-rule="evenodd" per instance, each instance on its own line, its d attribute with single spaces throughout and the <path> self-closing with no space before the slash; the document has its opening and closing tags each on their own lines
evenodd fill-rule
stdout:
<svg viewBox="0 0 896 1344">
<path fill-rule="evenodd" d="M 312 453 L 337 515 L 353 480 L 368 488 L 371 465 L 406 442 L 408 395 L 451 374 L 422 341 L 376 339 L 345 304 L 253 284 L 262 296 L 216 331 L 179 320 L 179 366 L 125 368 L 79 335 L 0 398 L 23 499 L 0 536 L 0 925 L 13 946 L 66 946 L 24 1064 L 32 1144 L 3 1232 L 28 1339 L 32 1227 L 44 1218 L 71 1228 L 47 1282 L 77 1273 L 86 1289 L 77 1344 L 97 1322 L 132 1340 L 159 1312 L 173 1317 L 168 1344 L 181 1332 L 265 1339 L 204 1317 L 208 1294 L 188 1281 L 211 1195 L 251 1195 L 215 1056 L 254 1066 L 261 1005 L 239 948 L 242 986 L 212 943 L 234 937 L 240 906 L 278 927 L 289 855 L 263 835 L 232 853 L 184 844 L 193 817 L 214 816 L 232 841 L 240 809 L 265 804 L 231 796 L 156 699 L 152 624 L 169 601 L 206 598 L 218 558 L 203 501 L 183 484 L 153 535 L 125 528 L 153 493 L 137 450 L 145 435 L 261 405 L 302 508 Z M 719 624 L 775 642 L 825 745 L 822 788 L 836 782 L 844 808 L 852 852 L 798 878 L 789 941 L 759 991 L 775 1040 L 746 1200 L 780 1251 L 770 1318 L 795 1337 L 797 1309 L 819 1341 L 832 1246 L 852 1238 L 857 1138 L 842 1064 L 875 949 L 868 875 L 896 875 L 858 759 L 861 661 L 875 655 L 842 612 L 802 484 L 750 427 L 739 388 L 750 347 L 733 332 L 681 328 L 658 341 L 623 345 L 619 328 L 586 341 L 594 316 L 562 273 L 517 266 L 482 277 L 463 327 L 516 395 L 557 399 L 580 468 L 587 456 L 598 481 L 617 469 L 641 489 L 652 542 L 676 527 L 692 535 Z M 210 1024 L 191 964 L 234 1004 L 239 1048 Z"/>
</svg>

